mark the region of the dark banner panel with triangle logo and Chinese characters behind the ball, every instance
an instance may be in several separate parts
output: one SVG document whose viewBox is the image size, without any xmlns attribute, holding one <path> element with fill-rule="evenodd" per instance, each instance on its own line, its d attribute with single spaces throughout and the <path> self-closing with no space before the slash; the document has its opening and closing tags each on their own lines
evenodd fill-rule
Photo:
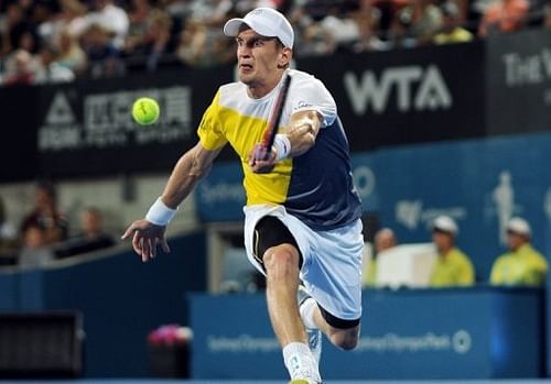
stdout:
<svg viewBox="0 0 551 384">
<path fill-rule="evenodd" d="M 129 172 L 170 172 L 196 143 L 195 130 L 217 87 L 208 72 L 163 73 L 114 80 L 41 87 L 36 147 L 41 172 L 71 177 Z M 161 117 L 152 125 L 131 118 L 133 101 L 155 98 Z"/>
</svg>

